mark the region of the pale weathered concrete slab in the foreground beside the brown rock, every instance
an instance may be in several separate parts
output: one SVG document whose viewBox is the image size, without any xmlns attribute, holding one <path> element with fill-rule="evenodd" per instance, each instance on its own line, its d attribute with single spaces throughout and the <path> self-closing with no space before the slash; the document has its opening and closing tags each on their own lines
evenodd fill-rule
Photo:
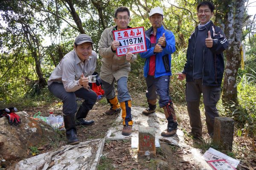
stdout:
<svg viewBox="0 0 256 170">
<path fill-rule="evenodd" d="M 104 143 L 105 139 L 94 139 L 62 146 L 58 151 L 19 161 L 15 170 L 96 170 Z"/>
</svg>

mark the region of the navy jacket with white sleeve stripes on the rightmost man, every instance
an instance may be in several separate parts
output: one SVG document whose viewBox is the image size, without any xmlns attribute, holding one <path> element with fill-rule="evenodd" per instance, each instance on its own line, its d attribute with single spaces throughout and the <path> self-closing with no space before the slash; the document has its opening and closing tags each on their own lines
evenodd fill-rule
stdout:
<svg viewBox="0 0 256 170">
<path fill-rule="evenodd" d="M 229 42 L 220 27 L 215 26 L 212 21 L 207 25 L 207 34 L 205 38 L 208 37 L 208 31 L 211 32 L 211 37 L 213 39 L 213 45 L 211 48 L 204 47 L 204 65 L 203 65 L 203 85 L 209 86 L 221 86 L 221 81 L 224 72 L 224 57 L 223 51 L 228 48 Z M 195 31 L 192 32 L 189 37 L 189 45 L 186 54 L 186 64 L 184 66 L 183 74 L 186 74 L 186 81 L 194 81 L 194 65 L 197 62 L 194 60 L 195 55 L 195 45 L 196 36 L 198 33 L 198 26 L 195 27 Z"/>
</svg>

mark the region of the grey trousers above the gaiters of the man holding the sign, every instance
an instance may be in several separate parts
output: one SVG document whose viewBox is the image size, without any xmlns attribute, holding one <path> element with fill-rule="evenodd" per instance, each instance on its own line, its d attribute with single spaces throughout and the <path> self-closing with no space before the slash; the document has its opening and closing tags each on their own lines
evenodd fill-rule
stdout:
<svg viewBox="0 0 256 170">
<path fill-rule="evenodd" d="M 127 77 L 121 77 L 117 80 L 117 99 L 119 102 L 131 100 L 131 95 L 129 94 L 127 88 L 127 81 Z M 102 80 L 103 90 L 105 91 L 106 99 L 113 99 L 116 95 L 114 82 L 115 79 L 111 84 Z"/>
</svg>

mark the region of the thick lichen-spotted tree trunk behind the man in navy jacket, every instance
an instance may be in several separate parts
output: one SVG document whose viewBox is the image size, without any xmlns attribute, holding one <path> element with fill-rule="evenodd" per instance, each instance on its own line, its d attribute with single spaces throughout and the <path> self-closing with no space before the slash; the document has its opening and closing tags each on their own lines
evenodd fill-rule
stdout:
<svg viewBox="0 0 256 170">
<path fill-rule="evenodd" d="M 225 34 L 230 42 L 229 49 L 226 51 L 227 62 L 224 71 L 224 83 L 222 92 L 222 102 L 231 103 L 237 100 L 237 85 L 236 77 L 237 71 L 241 62 L 241 35 L 242 35 L 242 23 L 244 15 L 244 3 L 245 0 L 236 1 L 235 16 L 233 16 L 233 6 L 229 3 L 227 8 L 227 14 L 225 17 Z"/>
</svg>

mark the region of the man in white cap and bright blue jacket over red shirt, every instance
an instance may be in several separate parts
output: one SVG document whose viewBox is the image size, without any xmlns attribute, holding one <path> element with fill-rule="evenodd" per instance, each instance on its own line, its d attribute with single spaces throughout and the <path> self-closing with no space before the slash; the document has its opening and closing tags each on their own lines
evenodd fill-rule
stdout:
<svg viewBox="0 0 256 170">
<path fill-rule="evenodd" d="M 145 58 L 144 77 L 147 83 L 146 97 L 148 108 L 143 114 L 149 115 L 156 111 L 157 94 L 159 106 L 163 108 L 168 120 L 167 129 L 162 136 L 173 136 L 177 130 L 177 120 L 171 96 L 169 96 L 169 83 L 171 72 L 171 54 L 175 52 L 175 37 L 172 31 L 163 28 L 163 9 L 152 8 L 149 13 L 151 28 L 145 31 L 147 51 L 140 53 Z"/>
</svg>

